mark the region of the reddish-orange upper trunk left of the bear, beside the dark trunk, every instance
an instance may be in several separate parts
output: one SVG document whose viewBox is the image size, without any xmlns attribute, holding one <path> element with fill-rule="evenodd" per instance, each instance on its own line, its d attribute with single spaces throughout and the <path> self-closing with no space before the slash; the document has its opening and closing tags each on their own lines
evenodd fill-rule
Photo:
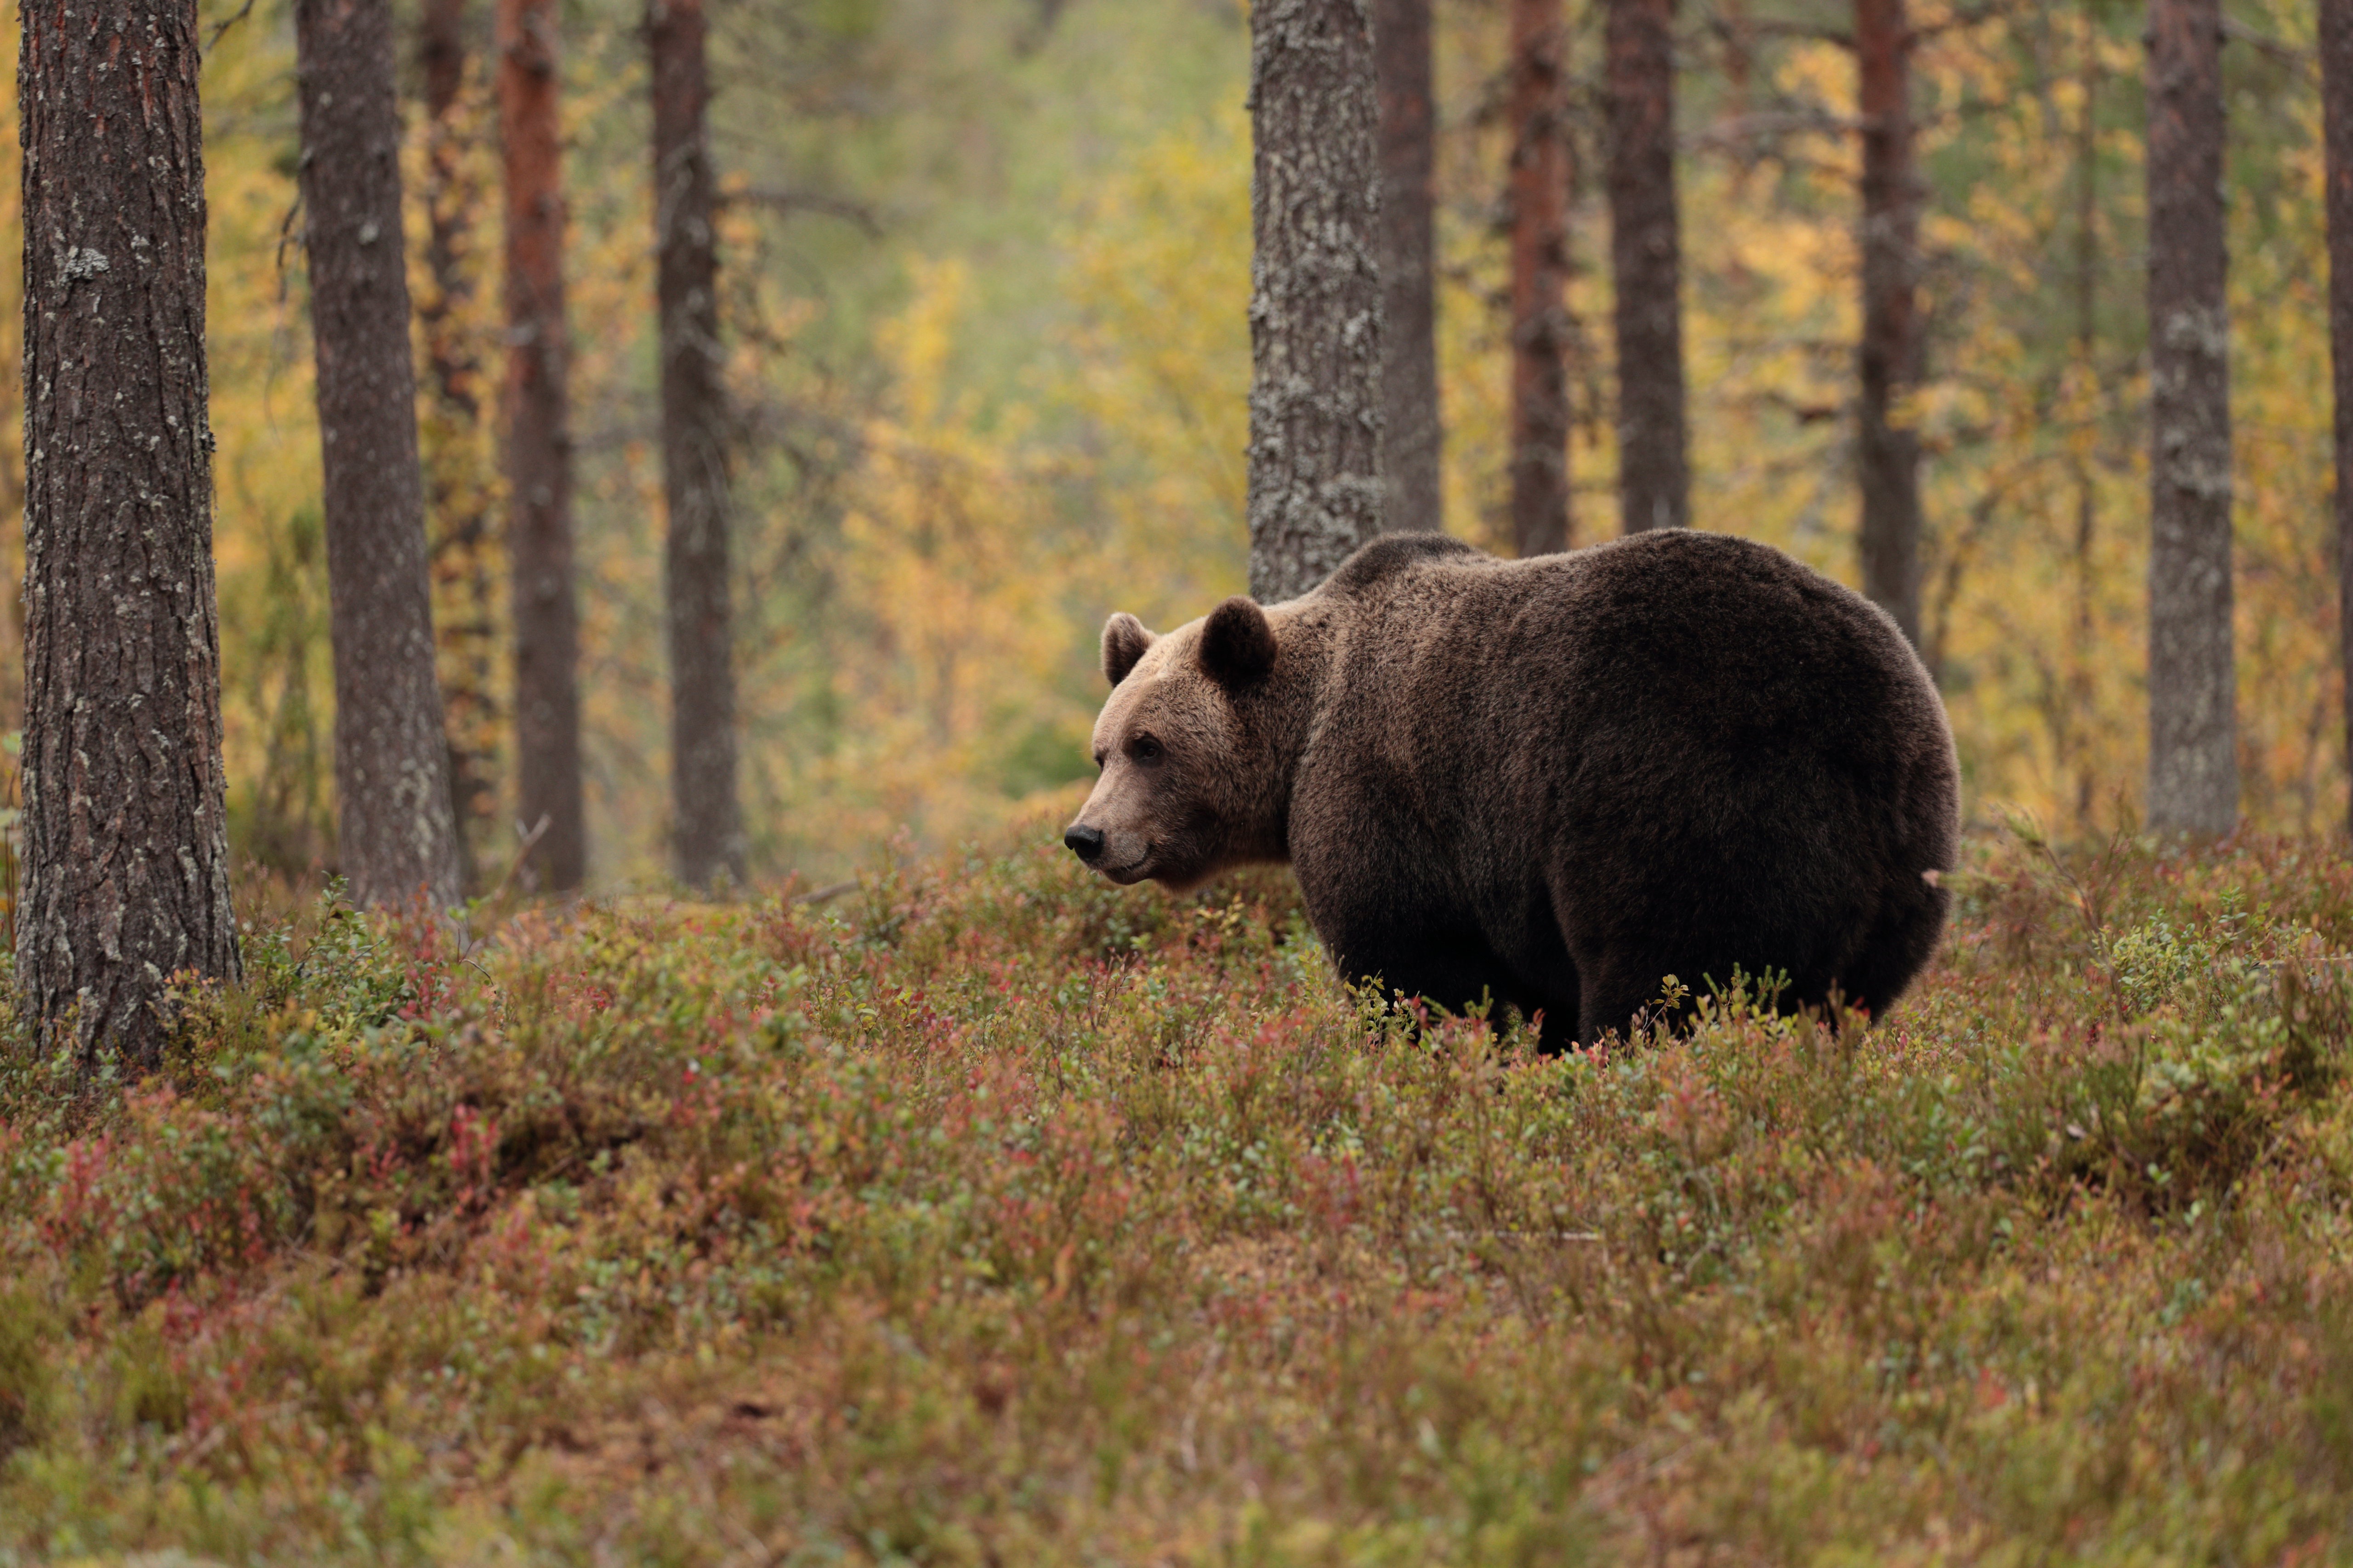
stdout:
<svg viewBox="0 0 2353 1568">
<path fill-rule="evenodd" d="M 572 435 L 565 423 L 565 195 L 555 0 L 499 0 L 506 153 L 506 552 L 515 614 L 515 773 L 541 891 L 588 872 L 581 802 Z"/>
</svg>

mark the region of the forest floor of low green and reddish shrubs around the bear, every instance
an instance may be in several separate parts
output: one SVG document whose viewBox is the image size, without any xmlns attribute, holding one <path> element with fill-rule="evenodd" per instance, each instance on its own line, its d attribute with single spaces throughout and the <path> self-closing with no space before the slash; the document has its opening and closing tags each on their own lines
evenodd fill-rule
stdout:
<svg viewBox="0 0 2353 1568">
<path fill-rule="evenodd" d="M 2344 844 L 1955 886 L 1562 1060 L 1049 846 L 256 917 L 0 1070 L 0 1563 L 2346 1561 Z"/>
</svg>

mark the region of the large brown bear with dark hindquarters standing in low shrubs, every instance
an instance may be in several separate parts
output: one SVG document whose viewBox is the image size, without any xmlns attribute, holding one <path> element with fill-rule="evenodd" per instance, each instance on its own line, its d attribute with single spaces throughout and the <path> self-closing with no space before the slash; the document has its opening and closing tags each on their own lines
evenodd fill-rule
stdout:
<svg viewBox="0 0 2353 1568">
<path fill-rule="evenodd" d="M 1285 604 L 1113 616 L 1104 675 L 1087 865 L 1181 891 L 1287 860 L 1344 976 L 1541 1013 L 1546 1048 L 1734 966 L 1880 1013 L 1944 929 L 1937 689 L 1885 611 L 1760 543 L 1393 534 Z"/>
</svg>

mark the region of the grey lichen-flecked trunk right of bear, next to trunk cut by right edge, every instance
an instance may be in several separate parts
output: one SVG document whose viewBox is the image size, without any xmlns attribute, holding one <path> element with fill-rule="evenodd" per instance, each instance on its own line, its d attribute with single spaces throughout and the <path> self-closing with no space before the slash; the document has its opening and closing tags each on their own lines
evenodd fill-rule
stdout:
<svg viewBox="0 0 2353 1568">
<path fill-rule="evenodd" d="M 2221 5 L 2148 5 L 2148 825 L 2238 825 Z"/>
</svg>

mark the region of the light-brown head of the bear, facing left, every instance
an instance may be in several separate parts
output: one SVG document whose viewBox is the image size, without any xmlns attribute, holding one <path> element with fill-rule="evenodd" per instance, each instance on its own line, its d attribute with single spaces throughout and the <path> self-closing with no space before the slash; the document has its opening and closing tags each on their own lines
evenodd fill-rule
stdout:
<svg viewBox="0 0 2353 1568">
<path fill-rule="evenodd" d="M 1287 684 L 1266 611 L 1226 599 L 1167 635 L 1104 623 L 1111 701 L 1094 783 L 1061 842 L 1118 884 L 1193 889 L 1228 865 L 1282 860 Z"/>
</svg>

